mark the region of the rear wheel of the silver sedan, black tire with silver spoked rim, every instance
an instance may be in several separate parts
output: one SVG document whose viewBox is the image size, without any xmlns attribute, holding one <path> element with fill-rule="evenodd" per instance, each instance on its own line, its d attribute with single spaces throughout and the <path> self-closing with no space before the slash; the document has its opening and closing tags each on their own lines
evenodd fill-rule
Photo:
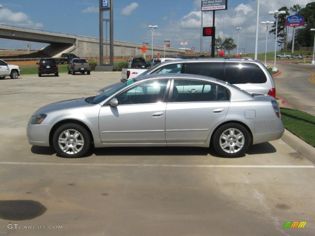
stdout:
<svg viewBox="0 0 315 236">
<path fill-rule="evenodd" d="M 228 131 L 229 129 L 234 129 L 235 137 L 233 138 L 230 137 L 230 133 Z M 243 133 L 243 136 L 237 139 L 236 136 L 239 134 L 239 132 Z M 226 139 L 227 141 L 224 142 L 224 139 L 221 138 L 221 135 L 227 134 L 227 133 L 228 133 L 227 139 Z M 244 155 L 244 153 L 247 151 L 249 147 L 249 144 L 251 143 L 251 138 L 250 138 L 248 130 L 243 125 L 240 125 L 237 123 L 229 123 L 229 124 L 222 125 L 215 131 L 212 141 L 213 141 L 213 146 L 214 146 L 215 151 L 220 156 L 233 158 L 233 157 L 240 157 Z M 221 147 L 221 145 L 224 146 L 224 144 L 228 146 L 226 146 L 225 148 Z M 242 147 L 239 147 L 237 145 L 240 145 Z M 230 153 L 231 149 L 234 149 L 234 153 Z"/>
</svg>

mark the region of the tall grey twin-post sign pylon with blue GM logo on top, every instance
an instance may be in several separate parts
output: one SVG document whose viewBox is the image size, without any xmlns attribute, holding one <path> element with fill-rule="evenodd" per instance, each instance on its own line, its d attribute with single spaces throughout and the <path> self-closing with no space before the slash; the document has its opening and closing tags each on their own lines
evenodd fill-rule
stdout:
<svg viewBox="0 0 315 236">
<path fill-rule="evenodd" d="M 111 71 L 114 65 L 114 16 L 113 16 L 113 0 L 99 0 L 100 1 L 100 66 L 97 66 L 95 70 L 99 71 Z M 104 37 L 103 37 L 103 21 L 106 21 L 106 26 L 108 19 L 103 19 L 103 12 L 109 11 L 109 61 L 110 65 L 104 65 Z M 107 27 L 106 27 L 106 49 L 107 49 Z M 107 50 L 106 50 L 107 51 Z M 107 53 L 106 53 L 106 64 L 107 64 Z"/>
</svg>

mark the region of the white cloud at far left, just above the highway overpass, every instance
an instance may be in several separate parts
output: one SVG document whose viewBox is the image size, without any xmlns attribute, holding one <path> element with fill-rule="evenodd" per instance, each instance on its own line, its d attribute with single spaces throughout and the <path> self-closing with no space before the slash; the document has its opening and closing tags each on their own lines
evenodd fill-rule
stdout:
<svg viewBox="0 0 315 236">
<path fill-rule="evenodd" d="M 15 25 L 29 28 L 43 28 L 42 23 L 34 23 L 30 16 L 24 12 L 12 12 L 8 8 L 0 10 L 0 22 L 4 25 Z"/>
</svg>

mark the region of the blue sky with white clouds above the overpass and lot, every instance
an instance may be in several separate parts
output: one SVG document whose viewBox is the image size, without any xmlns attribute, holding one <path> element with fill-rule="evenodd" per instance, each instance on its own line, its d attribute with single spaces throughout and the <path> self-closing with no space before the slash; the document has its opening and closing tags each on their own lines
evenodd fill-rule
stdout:
<svg viewBox="0 0 315 236">
<path fill-rule="evenodd" d="M 163 46 L 170 40 L 172 48 L 181 48 L 180 41 L 187 41 L 186 47 L 200 50 L 201 0 L 113 0 L 114 40 L 125 42 L 148 42 L 151 45 L 152 31 L 148 25 L 158 25 L 154 31 L 153 45 Z M 268 11 L 299 3 L 305 7 L 312 0 L 261 0 L 261 21 L 274 21 Z M 45 31 L 99 37 L 98 0 L 0 0 L 0 24 L 15 25 Z M 256 6 L 252 0 L 228 0 L 228 9 L 215 12 L 216 36 L 233 37 L 239 49 L 247 45 L 247 53 L 255 50 Z M 106 16 L 104 16 L 106 17 Z M 203 27 L 212 26 L 212 12 L 204 12 Z M 0 26 L 1 27 L 1 26 Z M 105 27 L 105 26 L 104 26 Z M 271 27 L 271 26 L 269 26 Z M 289 27 L 289 40 L 293 28 Z M 247 44 L 246 44 L 247 36 Z M 274 48 L 274 35 L 268 35 L 267 51 Z M 203 37 L 203 50 L 209 51 L 211 37 Z M 265 51 L 266 25 L 259 25 L 258 51 Z M 24 48 L 27 42 L 0 39 L 0 48 Z M 43 48 L 47 44 L 31 42 Z"/>
</svg>

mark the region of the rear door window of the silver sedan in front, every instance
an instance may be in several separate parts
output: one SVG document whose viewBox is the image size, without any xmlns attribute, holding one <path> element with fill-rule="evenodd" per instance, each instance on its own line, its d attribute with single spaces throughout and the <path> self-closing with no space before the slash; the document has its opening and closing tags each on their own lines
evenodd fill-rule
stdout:
<svg viewBox="0 0 315 236">
<path fill-rule="evenodd" d="M 173 102 L 203 102 L 218 100 L 228 100 L 226 88 L 203 81 L 174 81 L 172 95 Z"/>
</svg>

